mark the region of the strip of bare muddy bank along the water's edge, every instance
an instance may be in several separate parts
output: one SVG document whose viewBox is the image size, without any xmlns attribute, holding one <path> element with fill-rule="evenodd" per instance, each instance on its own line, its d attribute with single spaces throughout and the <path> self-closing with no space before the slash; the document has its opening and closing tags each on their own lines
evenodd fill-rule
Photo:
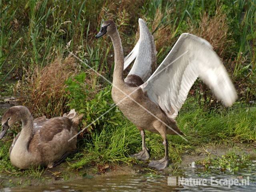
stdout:
<svg viewBox="0 0 256 192">
<path fill-rule="evenodd" d="M 64 184 L 74 180 L 82 179 L 100 179 L 109 177 L 118 177 L 124 175 L 136 174 L 156 174 L 156 175 L 170 175 L 174 169 L 192 169 L 191 163 L 204 160 L 209 156 L 220 157 L 225 155 L 230 149 L 236 149 L 237 154 L 250 154 L 251 160 L 256 160 L 256 152 L 254 144 L 233 144 L 222 146 L 203 146 L 198 147 L 190 154 L 182 155 L 182 163 L 170 163 L 168 168 L 162 171 L 152 170 L 148 168 L 148 163 L 142 164 L 105 164 L 102 166 L 87 166 L 79 170 L 71 170 L 68 168 L 68 163 L 65 162 L 60 166 L 51 169 L 31 170 L 30 175 L 22 174 L 20 172 L 0 173 L 0 188 L 6 187 L 25 187 L 25 186 L 46 186 L 52 184 Z M 175 165 L 175 166 L 174 166 Z M 196 164 L 196 166 L 198 166 Z"/>
</svg>

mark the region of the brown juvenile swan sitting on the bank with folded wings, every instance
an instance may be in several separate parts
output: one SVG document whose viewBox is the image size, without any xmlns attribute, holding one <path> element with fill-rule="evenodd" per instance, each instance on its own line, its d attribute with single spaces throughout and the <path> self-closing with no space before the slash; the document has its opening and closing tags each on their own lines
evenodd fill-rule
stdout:
<svg viewBox="0 0 256 192">
<path fill-rule="evenodd" d="M 13 106 L 2 117 L 0 139 L 15 122 L 22 122 L 22 130 L 10 147 L 10 161 L 13 166 L 28 169 L 31 166 L 52 168 L 76 151 L 76 137 L 81 116 L 71 110 L 65 117 L 37 118 L 33 121 L 28 108 Z"/>
</svg>

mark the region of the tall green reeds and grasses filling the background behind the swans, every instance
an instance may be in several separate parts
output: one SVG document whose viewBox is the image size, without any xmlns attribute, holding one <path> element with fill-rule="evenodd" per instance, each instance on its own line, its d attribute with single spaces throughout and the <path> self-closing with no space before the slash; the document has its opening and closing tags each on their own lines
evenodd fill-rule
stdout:
<svg viewBox="0 0 256 192">
<path fill-rule="evenodd" d="M 247 102 L 255 100 L 255 0 L 149 0 L 136 5 L 104 0 L 27 0 L 24 4 L 0 0 L 0 7 L 0 84 L 14 77 L 26 82 L 34 69 L 47 66 L 58 56 L 65 58 L 68 51 L 111 80 L 112 43 L 94 38 L 102 20 L 109 18 L 118 25 L 125 54 L 135 44 L 138 18 L 144 18 L 154 33 L 160 63 L 181 33 L 200 29 L 202 15 L 207 12 L 209 18 L 226 14 L 225 28 L 230 35 L 225 39 L 229 44 L 222 59 L 236 80 L 239 93 L 243 91 L 240 98 Z M 92 88 L 102 84 L 96 74 L 92 73 L 90 78 Z"/>
</svg>

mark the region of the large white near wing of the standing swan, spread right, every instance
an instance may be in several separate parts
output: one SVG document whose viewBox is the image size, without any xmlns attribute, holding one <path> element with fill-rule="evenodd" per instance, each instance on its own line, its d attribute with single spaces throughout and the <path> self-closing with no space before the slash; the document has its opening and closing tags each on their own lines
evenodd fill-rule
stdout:
<svg viewBox="0 0 256 192">
<path fill-rule="evenodd" d="M 234 85 L 210 43 L 184 33 L 141 88 L 170 118 L 175 118 L 198 77 L 225 106 L 236 100 Z"/>
</svg>

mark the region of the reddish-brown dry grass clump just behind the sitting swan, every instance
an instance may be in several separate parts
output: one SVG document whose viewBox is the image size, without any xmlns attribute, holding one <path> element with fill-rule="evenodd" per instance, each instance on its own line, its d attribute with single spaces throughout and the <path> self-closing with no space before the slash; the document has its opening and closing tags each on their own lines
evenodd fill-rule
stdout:
<svg viewBox="0 0 256 192">
<path fill-rule="evenodd" d="M 34 73 L 26 84 L 19 86 L 23 105 L 28 106 L 35 116 L 60 116 L 66 112 L 65 80 L 76 74 L 73 57 L 57 58 L 48 66 Z M 22 94 L 25 93 L 25 94 Z"/>
</svg>

